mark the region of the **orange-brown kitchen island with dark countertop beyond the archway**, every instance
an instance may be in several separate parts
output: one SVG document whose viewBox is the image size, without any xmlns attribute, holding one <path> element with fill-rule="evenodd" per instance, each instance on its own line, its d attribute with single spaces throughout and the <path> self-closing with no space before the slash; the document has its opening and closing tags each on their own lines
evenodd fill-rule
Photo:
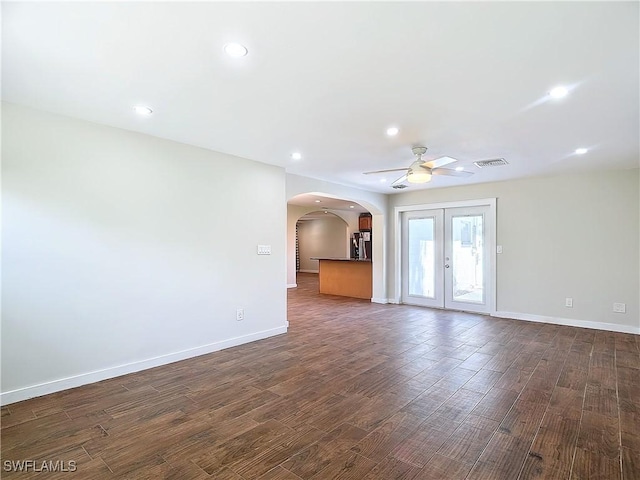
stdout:
<svg viewBox="0 0 640 480">
<path fill-rule="evenodd" d="M 317 258 L 320 293 L 371 300 L 371 260 Z"/>
</svg>

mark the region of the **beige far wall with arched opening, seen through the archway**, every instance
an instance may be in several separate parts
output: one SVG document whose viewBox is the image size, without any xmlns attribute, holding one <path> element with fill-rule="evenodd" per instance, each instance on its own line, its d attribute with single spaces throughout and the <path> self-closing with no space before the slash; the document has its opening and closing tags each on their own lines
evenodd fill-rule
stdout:
<svg viewBox="0 0 640 480">
<path fill-rule="evenodd" d="M 349 258 L 347 224 L 333 214 L 322 218 L 298 221 L 300 271 L 318 272 L 318 260 L 312 257 Z"/>
</svg>

